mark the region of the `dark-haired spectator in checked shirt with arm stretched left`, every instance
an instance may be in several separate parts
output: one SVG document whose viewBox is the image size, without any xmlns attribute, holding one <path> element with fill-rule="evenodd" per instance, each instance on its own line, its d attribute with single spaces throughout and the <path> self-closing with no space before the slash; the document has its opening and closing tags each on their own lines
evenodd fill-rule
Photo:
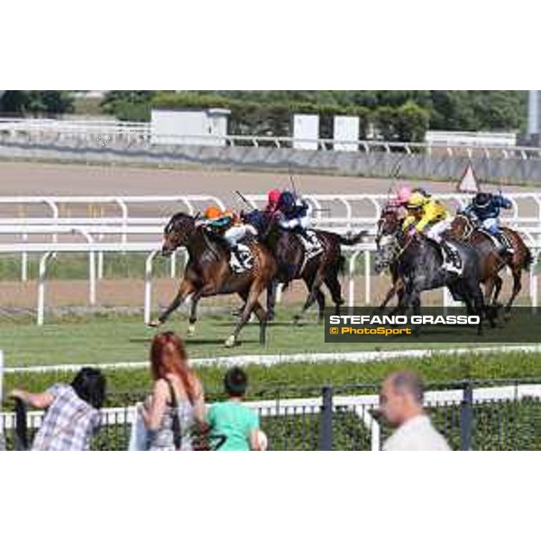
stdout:
<svg viewBox="0 0 541 541">
<path fill-rule="evenodd" d="M 95 368 L 83 368 L 69 385 L 58 383 L 41 393 L 15 389 L 10 396 L 47 409 L 33 451 L 87 451 L 100 423 L 105 376 Z"/>
</svg>

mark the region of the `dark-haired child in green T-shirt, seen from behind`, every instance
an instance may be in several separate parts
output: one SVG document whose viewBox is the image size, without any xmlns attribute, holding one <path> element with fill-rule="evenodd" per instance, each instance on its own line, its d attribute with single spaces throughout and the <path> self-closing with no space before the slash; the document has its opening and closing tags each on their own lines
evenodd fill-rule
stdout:
<svg viewBox="0 0 541 541">
<path fill-rule="evenodd" d="M 238 367 L 228 370 L 224 387 L 229 399 L 213 404 L 208 411 L 211 440 L 225 439 L 218 451 L 261 451 L 259 416 L 242 403 L 248 387 L 246 372 Z"/>
</svg>

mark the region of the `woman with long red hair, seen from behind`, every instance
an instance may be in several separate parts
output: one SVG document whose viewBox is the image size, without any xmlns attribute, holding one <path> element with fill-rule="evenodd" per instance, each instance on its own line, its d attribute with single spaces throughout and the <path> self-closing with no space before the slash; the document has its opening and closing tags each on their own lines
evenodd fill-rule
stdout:
<svg viewBox="0 0 541 541">
<path fill-rule="evenodd" d="M 142 408 L 151 451 L 189 451 L 192 429 L 205 419 L 205 396 L 188 366 L 184 344 L 175 333 L 160 333 L 151 344 L 152 394 Z"/>
</svg>

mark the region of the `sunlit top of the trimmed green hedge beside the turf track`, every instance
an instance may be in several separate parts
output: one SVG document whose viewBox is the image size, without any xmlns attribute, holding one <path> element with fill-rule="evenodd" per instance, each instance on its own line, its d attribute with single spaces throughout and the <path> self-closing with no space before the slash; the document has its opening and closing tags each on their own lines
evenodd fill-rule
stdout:
<svg viewBox="0 0 541 541">
<path fill-rule="evenodd" d="M 393 359 L 387 362 L 296 362 L 276 366 L 252 364 L 246 368 L 250 378 L 248 398 L 282 398 L 318 395 L 321 387 L 331 383 L 336 387 L 367 385 L 364 392 L 375 392 L 380 382 L 391 372 L 404 368 L 418 371 L 431 384 L 450 381 L 522 380 L 541 381 L 539 353 L 492 353 L 471 355 L 436 355 L 423 359 Z M 197 367 L 209 399 L 222 398 L 222 379 L 225 368 Z M 109 405 L 124 405 L 126 400 L 141 399 L 151 387 L 147 369 L 106 370 L 110 391 Z M 5 375 L 5 390 L 22 387 L 39 391 L 57 381 L 69 381 L 72 372 L 19 372 Z M 359 390 L 356 390 L 359 392 Z"/>
</svg>

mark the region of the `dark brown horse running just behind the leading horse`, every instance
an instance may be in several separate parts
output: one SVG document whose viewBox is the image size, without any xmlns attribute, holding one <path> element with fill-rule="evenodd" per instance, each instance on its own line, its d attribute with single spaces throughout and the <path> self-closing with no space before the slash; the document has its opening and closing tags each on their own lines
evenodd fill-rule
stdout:
<svg viewBox="0 0 541 541">
<path fill-rule="evenodd" d="M 319 321 L 323 321 L 326 298 L 321 288 L 324 284 L 335 303 L 335 313 L 339 314 L 340 307 L 344 304 L 342 286 L 338 280 L 345 262 L 341 245 L 352 246 L 362 242 L 366 232 L 345 237 L 311 229 L 310 231 L 316 234 L 321 250 L 309 257 L 299 238 L 300 233 L 282 229 L 275 216 L 256 209 L 243 214 L 243 220 L 257 229 L 261 243 L 269 247 L 278 263 L 278 273 L 267 289 L 267 311 L 270 319 L 274 316 L 278 284 L 282 283 L 287 287 L 292 280 L 303 280 L 308 289 L 307 299 L 300 313 L 294 317 L 297 323 L 314 302 L 317 302 Z"/>
</svg>

